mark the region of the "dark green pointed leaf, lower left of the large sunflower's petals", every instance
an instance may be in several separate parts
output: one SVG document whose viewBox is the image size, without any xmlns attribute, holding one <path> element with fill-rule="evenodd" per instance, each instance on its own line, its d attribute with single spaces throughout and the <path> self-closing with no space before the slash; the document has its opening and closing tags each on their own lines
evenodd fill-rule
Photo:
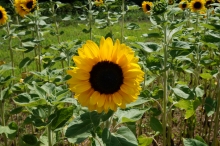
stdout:
<svg viewBox="0 0 220 146">
<path fill-rule="evenodd" d="M 62 108 L 56 112 L 57 116 L 52 121 L 52 130 L 64 126 L 64 124 L 72 117 L 73 115 L 73 106 L 68 108 Z"/>
</svg>

